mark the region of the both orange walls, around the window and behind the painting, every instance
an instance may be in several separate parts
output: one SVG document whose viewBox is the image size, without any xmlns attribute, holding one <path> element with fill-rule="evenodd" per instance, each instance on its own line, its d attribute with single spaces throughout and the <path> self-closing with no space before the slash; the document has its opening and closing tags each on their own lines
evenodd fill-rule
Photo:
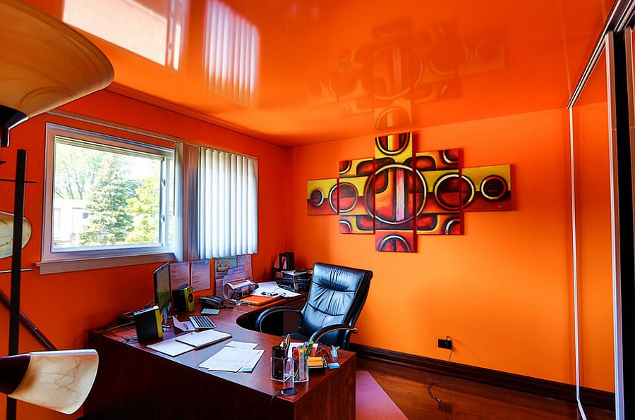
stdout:
<svg viewBox="0 0 635 420">
<path fill-rule="evenodd" d="M 516 210 L 466 214 L 465 235 L 418 237 L 416 254 L 374 251 L 372 235 L 339 235 L 337 216 L 306 216 L 306 180 L 337 176 L 342 159 L 373 156 L 373 139 L 359 137 L 282 149 L 119 94 L 101 92 L 65 107 L 260 158 L 260 252 L 256 278 L 268 276 L 274 255 L 296 252 L 316 261 L 375 273 L 353 342 L 447 359 L 436 339 L 451 335 L 453 362 L 574 383 L 570 245 L 569 124 L 566 110 L 504 116 L 414 130 L 418 151 L 462 147 L 466 166 L 512 163 Z M 29 151 L 26 215 L 34 234 L 24 264 L 40 259 L 44 123 L 95 130 L 40 116 L 12 132 L 2 178 L 13 173 L 15 150 Z M 284 180 L 284 188 L 280 187 Z M 10 211 L 2 185 L 0 209 Z M 10 259 L 0 261 L 0 269 Z M 152 298 L 156 264 L 23 276 L 23 311 L 59 348 L 82 347 L 86 330 Z M 8 293 L 7 275 L 0 288 Z M 6 331 L 6 311 L 0 325 Z M 26 334 L 22 351 L 39 350 Z M 6 337 L 0 336 L 0 349 Z M 1 353 L 0 353 L 1 354 Z M 595 362 L 590 362 L 591 366 Z M 603 388 L 603 387 L 600 387 Z M 0 399 L 4 410 L 4 399 Z M 21 418 L 57 418 L 20 404 Z"/>
</svg>

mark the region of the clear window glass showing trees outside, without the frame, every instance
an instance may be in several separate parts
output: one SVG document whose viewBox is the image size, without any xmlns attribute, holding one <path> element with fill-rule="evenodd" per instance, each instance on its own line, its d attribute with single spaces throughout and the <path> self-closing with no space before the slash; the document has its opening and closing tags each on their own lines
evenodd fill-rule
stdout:
<svg viewBox="0 0 635 420">
<path fill-rule="evenodd" d="M 53 250 L 159 245 L 163 160 L 55 137 Z"/>
</svg>

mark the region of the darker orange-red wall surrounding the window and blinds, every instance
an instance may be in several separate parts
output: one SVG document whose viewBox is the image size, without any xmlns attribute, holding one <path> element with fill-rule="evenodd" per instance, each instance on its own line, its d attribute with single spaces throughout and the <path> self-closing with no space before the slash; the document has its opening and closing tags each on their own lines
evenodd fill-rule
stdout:
<svg viewBox="0 0 635 420">
<path fill-rule="evenodd" d="M 259 252 L 253 256 L 253 273 L 256 279 L 269 278 L 274 256 L 285 250 L 282 234 L 284 218 L 279 206 L 275 205 L 283 202 L 283 191 L 279 187 L 279 182 L 284 178 L 284 149 L 111 92 L 92 94 L 63 108 L 229 151 L 258 156 Z M 1 157 L 8 163 L 0 167 L 0 178 L 13 178 L 16 149 L 23 148 L 28 150 L 27 178 L 37 181 L 37 184 L 26 187 L 25 216 L 32 223 L 33 235 L 23 250 L 24 267 L 30 267 L 35 261 L 40 261 L 47 121 L 87 130 L 99 130 L 95 125 L 43 115 L 11 131 L 11 147 L 2 149 Z M 12 211 L 13 188 L 7 183 L 1 183 L 0 188 L 0 210 Z M 56 347 L 80 348 L 86 341 L 88 328 L 109 323 L 116 314 L 139 309 L 152 299 L 152 270 L 157 266 L 158 264 L 147 264 L 46 276 L 40 276 L 36 269 L 35 272 L 23 274 L 21 307 Z M 8 268 L 11 268 L 11 259 L 0 260 L 0 270 Z M 9 277 L 8 274 L 0 275 L 0 288 L 7 295 L 10 291 Z M 1 308 L 0 331 L 0 355 L 4 355 L 8 347 L 8 311 Z M 35 344 L 23 331 L 20 351 L 41 350 Z M 27 404 L 20 404 L 20 417 L 23 419 L 56 417 L 54 412 L 35 408 L 23 409 L 23 405 Z M 0 412 L 4 412 L 4 397 L 0 398 Z"/>
</svg>

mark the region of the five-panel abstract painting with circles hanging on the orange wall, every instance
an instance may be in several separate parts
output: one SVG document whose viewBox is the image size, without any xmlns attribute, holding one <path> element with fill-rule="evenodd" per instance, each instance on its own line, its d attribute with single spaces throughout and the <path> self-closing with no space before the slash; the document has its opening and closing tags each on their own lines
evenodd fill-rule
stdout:
<svg viewBox="0 0 635 420">
<path fill-rule="evenodd" d="M 416 235 L 462 235 L 465 211 L 512 209 L 509 165 L 464 168 L 461 149 L 413 153 L 412 133 L 375 138 L 375 157 L 309 180 L 307 213 L 339 214 L 339 232 L 374 234 L 375 249 L 416 252 Z"/>
</svg>

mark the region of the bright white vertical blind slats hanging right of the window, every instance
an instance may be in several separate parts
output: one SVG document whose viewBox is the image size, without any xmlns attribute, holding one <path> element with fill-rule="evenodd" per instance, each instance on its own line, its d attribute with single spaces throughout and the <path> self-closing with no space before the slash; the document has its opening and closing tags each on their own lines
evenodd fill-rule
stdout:
<svg viewBox="0 0 635 420">
<path fill-rule="evenodd" d="M 258 252 L 258 160 L 201 149 L 200 258 Z"/>
</svg>

